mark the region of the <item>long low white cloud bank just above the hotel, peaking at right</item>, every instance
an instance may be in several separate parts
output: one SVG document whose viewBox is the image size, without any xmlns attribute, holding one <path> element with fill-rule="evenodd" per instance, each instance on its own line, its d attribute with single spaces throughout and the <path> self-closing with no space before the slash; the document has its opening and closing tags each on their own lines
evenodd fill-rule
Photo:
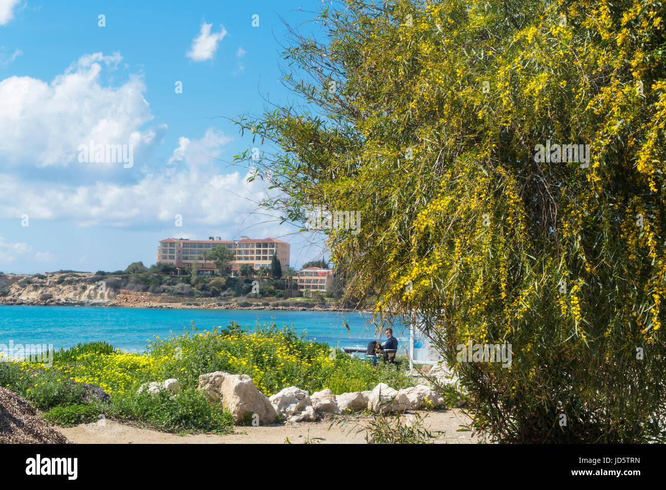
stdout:
<svg viewBox="0 0 666 490">
<path fill-rule="evenodd" d="M 79 226 L 165 228 L 174 226 L 176 214 L 183 226 L 235 227 L 264 223 L 258 215 L 248 220 L 266 196 L 259 180 L 247 182 L 248 171 L 222 173 L 224 145 L 231 138 L 209 128 L 200 139 L 180 138 L 168 162 L 130 184 L 97 181 L 94 184 L 54 186 L 50 182 L 23 182 L 0 174 L 0 217 L 29 214 L 31 219 L 67 220 Z M 252 228 L 275 236 L 274 225 Z M 268 228 L 266 228 L 268 226 Z M 182 229 L 180 230 L 182 231 Z"/>
</svg>

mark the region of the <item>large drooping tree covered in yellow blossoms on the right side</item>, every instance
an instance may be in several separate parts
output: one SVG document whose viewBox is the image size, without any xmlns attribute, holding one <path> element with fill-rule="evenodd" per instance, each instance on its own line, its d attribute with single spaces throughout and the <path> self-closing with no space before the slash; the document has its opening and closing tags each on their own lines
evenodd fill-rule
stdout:
<svg viewBox="0 0 666 490">
<path fill-rule="evenodd" d="M 347 294 L 418 312 L 478 428 L 663 438 L 663 3 L 344 3 L 290 30 L 307 105 L 236 121 L 266 206 L 360 214 L 324 227 Z M 457 362 L 470 340 L 511 366 Z"/>
</svg>

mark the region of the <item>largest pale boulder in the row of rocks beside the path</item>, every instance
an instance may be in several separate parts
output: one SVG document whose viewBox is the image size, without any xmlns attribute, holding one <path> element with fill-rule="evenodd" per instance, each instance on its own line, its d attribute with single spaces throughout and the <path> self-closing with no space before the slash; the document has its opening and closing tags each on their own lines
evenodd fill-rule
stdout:
<svg viewBox="0 0 666 490">
<path fill-rule="evenodd" d="M 254 381 L 246 374 L 222 371 L 202 374 L 198 389 L 209 399 L 220 401 L 230 411 L 235 423 L 258 418 L 259 425 L 266 425 L 278 416 L 268 397 L 256 389 Z"/>
</svg>

